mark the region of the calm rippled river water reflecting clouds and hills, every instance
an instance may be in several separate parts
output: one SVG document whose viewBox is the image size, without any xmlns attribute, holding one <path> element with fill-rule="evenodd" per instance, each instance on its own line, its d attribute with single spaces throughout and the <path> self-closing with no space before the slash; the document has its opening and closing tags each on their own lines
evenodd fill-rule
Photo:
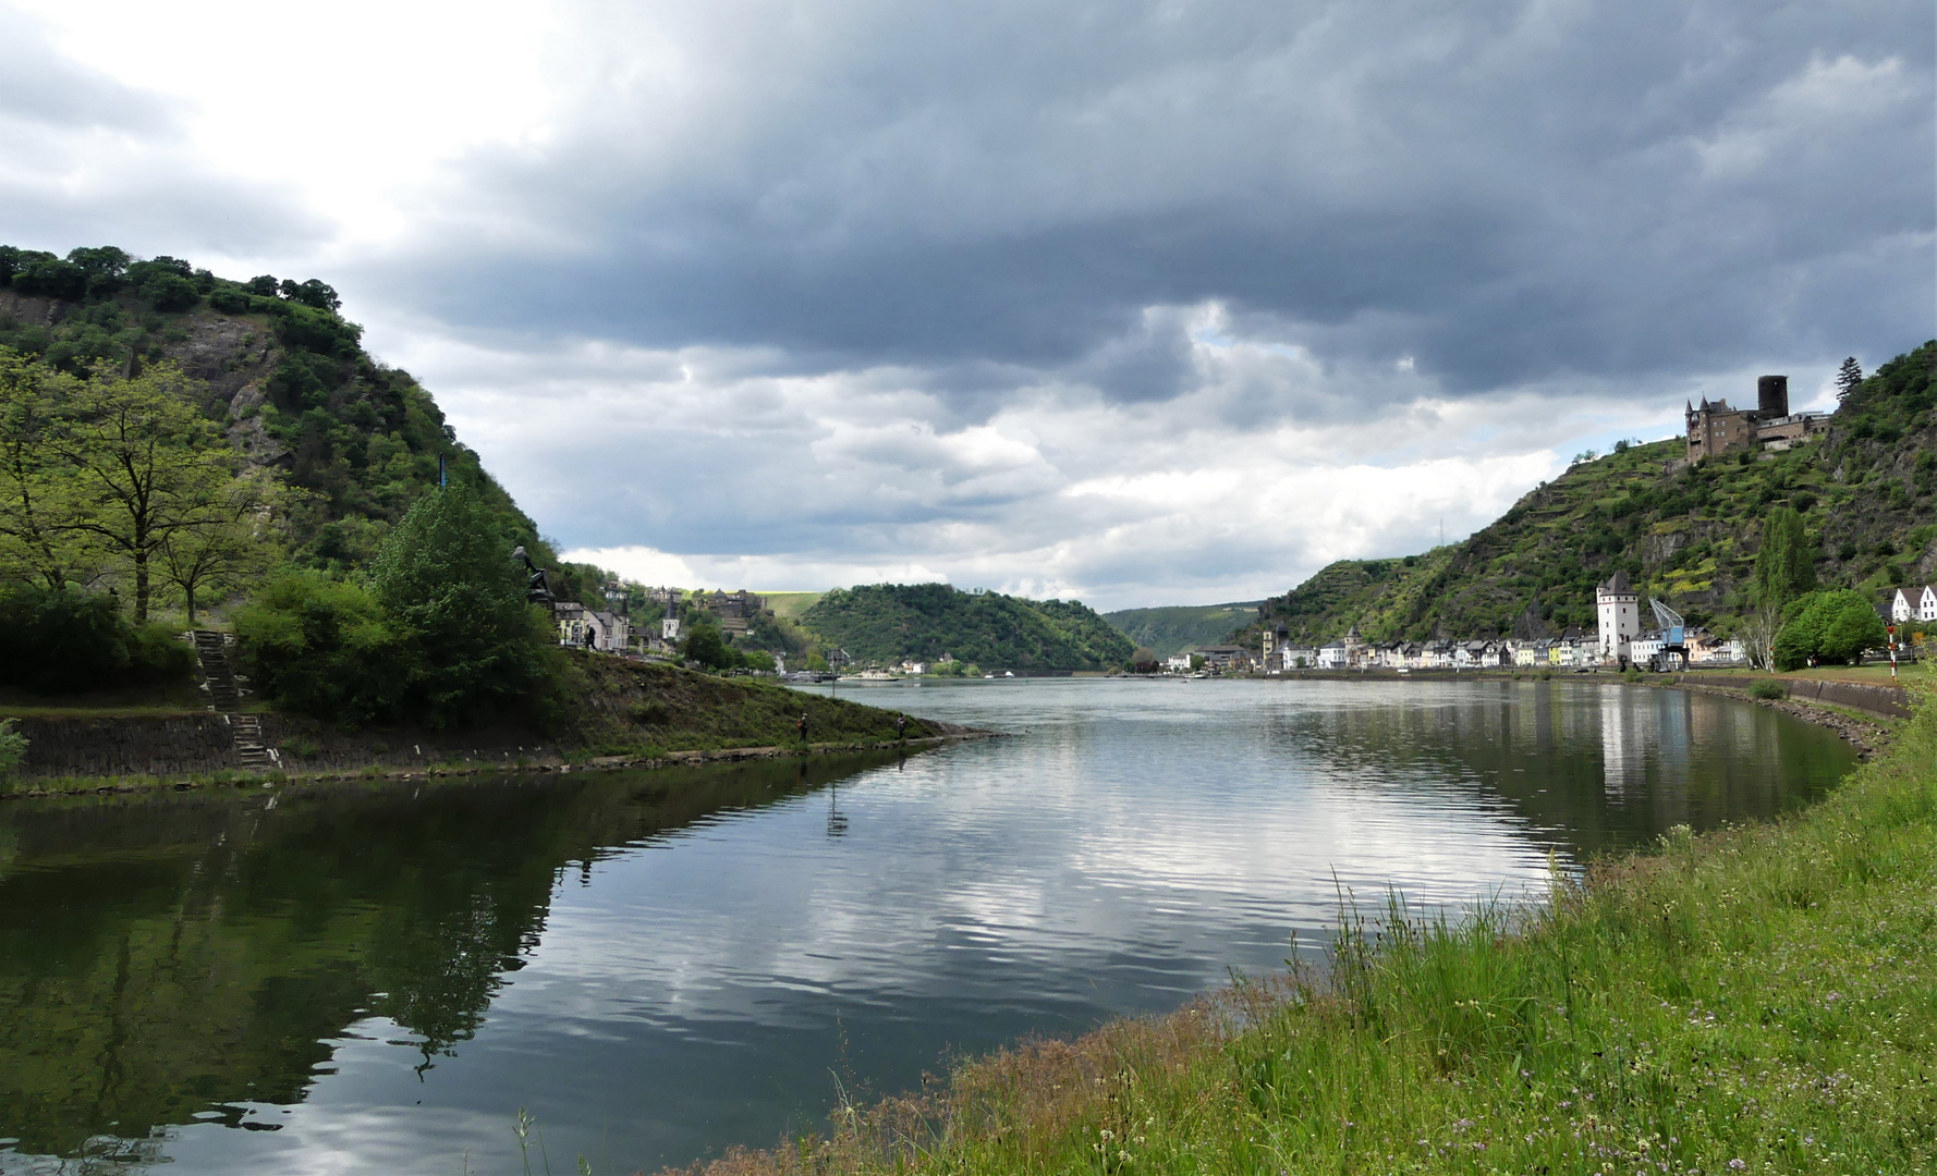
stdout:
<svg viewBox="0 0 1937 1176">
<path fill-rule="evenodd" d="M 511 1172 L 521 1108 L 533 1170 L 684 1164 L 1854 761 L 1579 680 L 839 694 L 1015 738 L 0 804 L 0 1172 Z"/>
</svg>

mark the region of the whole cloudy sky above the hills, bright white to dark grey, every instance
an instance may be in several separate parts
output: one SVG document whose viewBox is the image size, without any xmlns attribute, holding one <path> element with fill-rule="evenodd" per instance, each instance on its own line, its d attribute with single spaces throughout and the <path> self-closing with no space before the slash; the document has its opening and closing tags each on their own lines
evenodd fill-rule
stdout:
<svg viewBox="0 0 1937 1176">
<path fill-rule="evenodd" d="M 1927 0 L 0 0 L 0 242 L 322 277 L 571 558 L 1276 595 L 1937 335 Z"/>
</svg>

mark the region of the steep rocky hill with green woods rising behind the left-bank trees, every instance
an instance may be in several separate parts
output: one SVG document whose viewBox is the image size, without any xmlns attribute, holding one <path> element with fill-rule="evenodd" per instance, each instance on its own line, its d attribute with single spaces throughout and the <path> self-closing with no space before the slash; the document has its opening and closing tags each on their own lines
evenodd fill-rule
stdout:
<svg viewBox="0 0 1937 1176">
<path fill-rule="evenodd" d="M 292 494 L 281 517 L 296 566 L 360 568 L 446 477 L 482 492 L 506 537 L 556 566 L 537 527 L 461 446 L 422 386 L 362 349 L 362 327 L 318 281 L 215 277 L 178 258 L 0 246 L 0 347 L 58 374 L 124 378 L 176 366 L 248 467 Z M 564 575 L 569 587 L 571 573 Z"/>
</svg>

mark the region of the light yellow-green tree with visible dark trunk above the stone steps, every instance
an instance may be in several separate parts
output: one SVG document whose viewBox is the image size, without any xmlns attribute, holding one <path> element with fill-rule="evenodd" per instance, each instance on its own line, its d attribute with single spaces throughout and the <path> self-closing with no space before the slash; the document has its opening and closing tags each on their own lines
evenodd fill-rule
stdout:
<svg viewBox="0 0 1937 1176">
<path fill-rule="evenodd" d="M 234 455 L 186 386 L 172 364 L 132 380 L 97 372 L 76 386 L 50 446 L 74 477 L 66 527 L 130 564 L 136 624 L 147 622 L 161 548 L 182 531 L 221 525 L 231 510 Z"/>
</svg>

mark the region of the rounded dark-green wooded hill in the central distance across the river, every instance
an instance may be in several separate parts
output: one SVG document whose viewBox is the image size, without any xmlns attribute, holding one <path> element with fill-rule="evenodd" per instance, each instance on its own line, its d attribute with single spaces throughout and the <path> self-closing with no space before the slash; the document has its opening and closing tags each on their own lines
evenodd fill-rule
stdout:
<svg viewBox="0 0 1937 1176">
<path fill-rule="evenodd" d="M 864 665 L 949 653 L 984 670 L 1112 670 L 1135 653 L 1123 634 L 1075 601 L 965 593 L 945 583 L 837 589 L 800 622 Z"/>
</svg>

